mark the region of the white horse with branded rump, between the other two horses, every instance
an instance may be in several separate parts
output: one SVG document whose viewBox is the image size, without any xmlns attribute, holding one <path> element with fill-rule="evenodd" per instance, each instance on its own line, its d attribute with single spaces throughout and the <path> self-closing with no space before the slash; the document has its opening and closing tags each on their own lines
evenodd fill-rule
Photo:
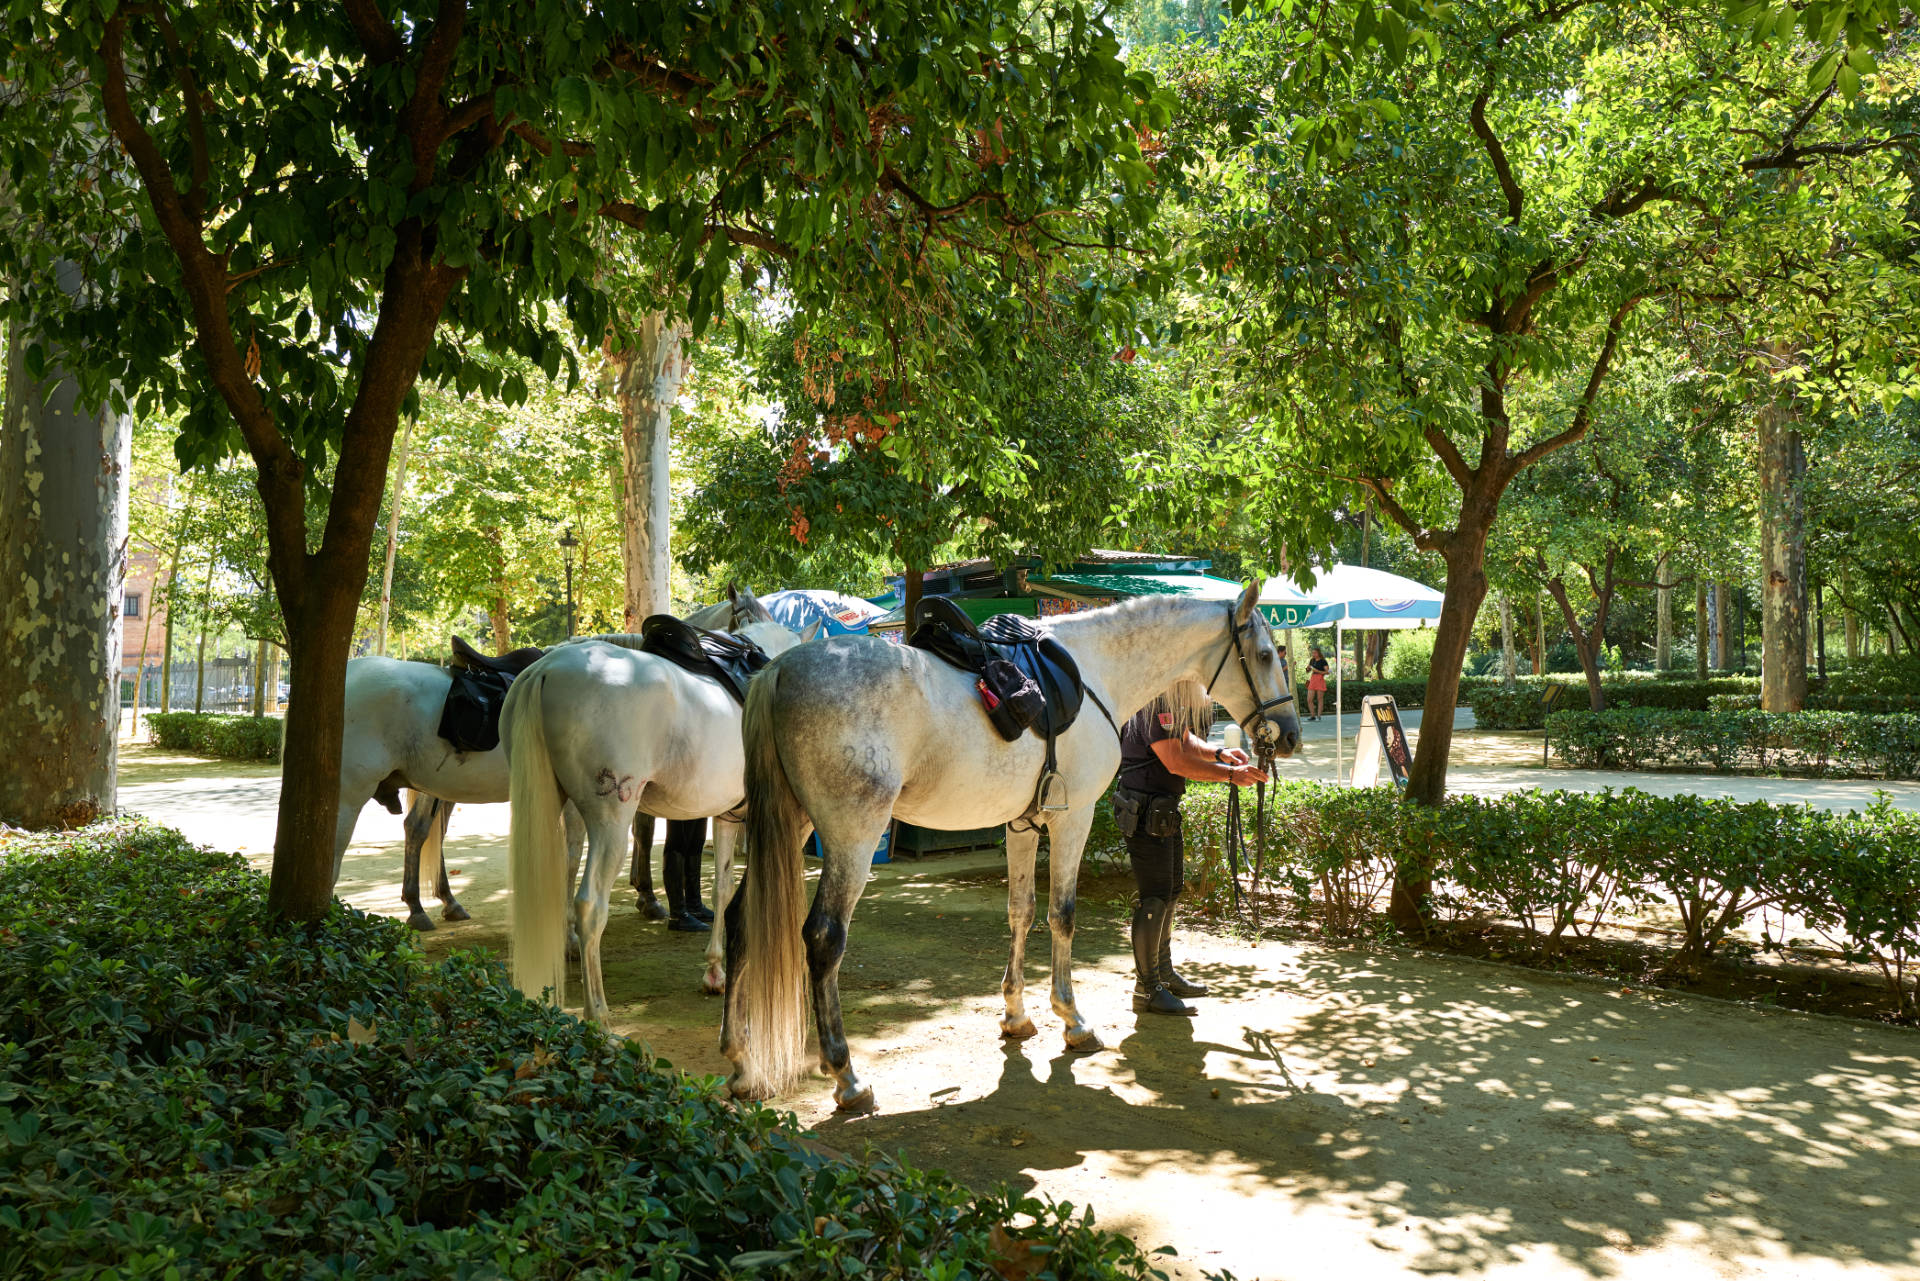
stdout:
<svg viewBox="0 0 1920 1281">
<path fill-rule="evenodd" d="M 772 620 L 737 630 L 770 655 L 803 640 Z M 808 636 L 816 632 L 818 624 L 808 626 Z M 513 981 L 520 991 L 532 997 L 551 991 L 555 1004 L 564 1001 L 572 924 L 588 1016 L 607 1024 L 599 943 L 636 810 L 714 820 L 714 930 L 705 985 L 710 993 L 724 991 L 720 918 L 732 893 L 745 797 L 739 718 L 739 705 L 716 680 L 634 649 L 564 645 L 520 672 L 501 711 L 513 797 L 507 835 Z M 578 807 L 588 837 L 572 912 L 563 803 Z"/>
</svg>

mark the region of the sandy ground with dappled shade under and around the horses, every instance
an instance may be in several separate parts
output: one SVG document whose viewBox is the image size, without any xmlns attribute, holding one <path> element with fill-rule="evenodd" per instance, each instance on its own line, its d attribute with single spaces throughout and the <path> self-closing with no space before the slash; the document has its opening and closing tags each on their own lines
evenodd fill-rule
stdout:
<svg viewBox="0 0 1920 1281">
<path fill-rule="evenodd" d="M 276 789 L 271 766 L 123 759 L 125 809 L 263 864 Z M 474 920 L 424 935 L 430 949 L 505 947 L 505 807 L 455 814 L 449 866 Z M 399 820 L 378 807 L 340 893 L 399 914 Z M 843 1001 L 881 1112 L 835 1116 L 824 1079 L 781 1106 L 847 1150 L 1091 1204 L 1148 1248 L 1173 1245 L 1179 1277 L 1920 1279 L 1912 1031 L 1196 931 L 1177 956 L 1215 995 L 1190 1022 L 1140 1018 L 1123 895 L 1116 878 L 1083 889 L 1077 987 L 1110 1049 L 1077 1056 L 1044 1012 L 1043 960 L 1027 970 L 1041 1035 L 996 1035 L 995 857 L 876 868 Z M 701 949 L 616 897 L 616 1029 L 720 1074 Z"/>
</svg>

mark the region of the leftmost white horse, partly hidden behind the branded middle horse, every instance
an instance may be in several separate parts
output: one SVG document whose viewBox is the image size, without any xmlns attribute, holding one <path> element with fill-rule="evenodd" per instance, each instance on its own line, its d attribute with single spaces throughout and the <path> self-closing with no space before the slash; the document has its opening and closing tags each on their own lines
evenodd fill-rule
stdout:
<svg viewBox="0 0 1920 1281">
<path fill-rule="evenodd" d="M 701 628 L 739 630 L 747 624 L 772 622 L 766 607 L 753 592 L 728 586 L 728 599 L 708 605 L 687 622 Z M 785 628 L 781 628 L 785 630 Z M 791 636 L 791 632 L 789 632 Z M 612 643 L 639 643 L 637 636 L 605 638 Z M 791 643 L 791 641 L 789 641 Z M 378 799 L 392 812 L 401 812 L 399 793 L 411 789 L 457 805 L 497 805 L 507 799 L 507 751 L 457 751 L 440 737 L 440 711 L 447 701 L 453 676 L 447 668 L 405 661 L 365 657 L 348 663 L 346 732 L 340 741 L 340 810 L 334 820 L 334 882 L 353 828 L 367 801 Z M 413 805 L 407 814 L 407 906 L 415 930 L 432 930 L 434 922 L 420 910 L 419 866 L 424 858 L 438 874 L 440 901 L 447 920 L 467 920 L 467 908 L 453 897 L 447 883 L 442 839 L 447 830 L 447 807 Z M 570 816 L 570 843 L 578 857 L 584 830 Z"/>
</svg>

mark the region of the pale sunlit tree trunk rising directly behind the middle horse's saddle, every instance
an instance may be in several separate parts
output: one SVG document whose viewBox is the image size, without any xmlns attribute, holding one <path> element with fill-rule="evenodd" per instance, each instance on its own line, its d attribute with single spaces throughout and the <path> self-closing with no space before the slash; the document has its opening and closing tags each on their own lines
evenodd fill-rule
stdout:
<svg viewBox="0 0 1920 1281">
<path fill-rule="evenodd" d="M 664 313 L 634 325 L 636 346 L 609 355 L 620 401 L 626 630 L 649 615 L 672 613 L 670 542 L 674 495 L 668 488 L 674 401 L 685 376 L 687 330 Z"/>
</svg>

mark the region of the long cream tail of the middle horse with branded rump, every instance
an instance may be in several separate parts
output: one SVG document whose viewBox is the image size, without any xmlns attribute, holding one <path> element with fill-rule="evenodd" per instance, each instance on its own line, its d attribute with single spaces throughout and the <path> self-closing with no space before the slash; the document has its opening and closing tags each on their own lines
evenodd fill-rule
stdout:
<svg viewBox="0 0 1920 1281">
<path fill-rule="evenodd" d="M 545 674 L 520 676 L 507 689 L 509 791 L 507 885 L 513 901 L 513 985 L 528 997 L 566 1001 L 566 834 L 561 784 L 547 755 Z"/>
</svg>

